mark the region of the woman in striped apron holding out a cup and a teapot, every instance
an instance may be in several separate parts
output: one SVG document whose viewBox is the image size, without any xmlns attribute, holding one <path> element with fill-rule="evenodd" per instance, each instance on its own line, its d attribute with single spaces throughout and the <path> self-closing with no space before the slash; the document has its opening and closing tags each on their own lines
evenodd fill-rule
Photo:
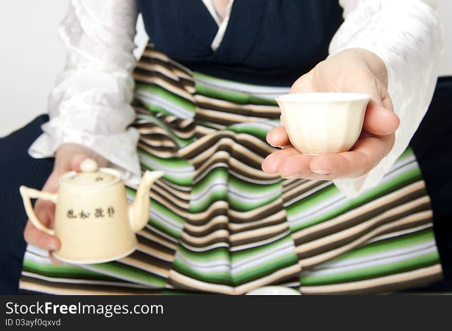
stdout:
<svg viewBox="0 0 452 331">
<path fill-rule="evenodd" d="M 72 1 L 50 120 L 2 140 L 2 168 L 11 192 L 20 184 L 56 191 L 62 173 L 93 158 L 121 169 L 131 194 L 140 164 L 163 170 L 140 247 L 111 263 L 59 265 L 51 255 L 58 238 L 28 222 L 23 290 L 242 294 L 285 284 L 304 294 L 378 293 L 442 278 L 426 184 L 407 149 L 435 87 L 443 39 L 428 4 L 137 5 Z M 137 8 L 152 42 L 138 64 Z M 273 101 L 289 88 L 372 95 L 350 152 L 312 157 L 290 147 Z M 40 159 L 24 155 L 30 144 Z M 3 200 L 6 217 L 25 221 L 18 194 Z M 35 211 L 51 225 L 51 203 L 37 201 Z M 20 274 L 21 224 L 2 222 L 12 228 L 12 244 L 4 241 L 15 258 L 4 258 L 13 269 L 5 291 Z"/>
</svg>

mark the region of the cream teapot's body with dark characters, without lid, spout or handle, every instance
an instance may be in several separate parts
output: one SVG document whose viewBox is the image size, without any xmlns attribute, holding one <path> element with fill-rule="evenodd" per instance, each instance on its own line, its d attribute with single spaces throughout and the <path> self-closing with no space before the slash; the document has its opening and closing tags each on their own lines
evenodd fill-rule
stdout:
<svg viewBox="0 0 452 331">
<path fill-rule="evenodd" d="M 122 182 L 77 189 L 60 185 L 54 233 L 61 248 L 53 255 L 65 262 L 101 263 L 129 255 L 137 239 Z"/>
</svg>

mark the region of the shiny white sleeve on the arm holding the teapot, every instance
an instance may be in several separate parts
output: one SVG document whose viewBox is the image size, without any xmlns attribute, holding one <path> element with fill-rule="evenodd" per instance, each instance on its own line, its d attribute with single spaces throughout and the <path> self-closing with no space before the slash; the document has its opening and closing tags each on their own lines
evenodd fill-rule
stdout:
<svg viewBox="0 0 452 331">
<path fill-rule="evenodd" d="M 78 143 L 123 170 L 140 175 L 139 134 L 130 106 L 136 65 L 135 0 L 72 0 L 60 26 L 67 47 L 64 71 L 50 94 L 50 121 L 31 145 L 34 158 L 52 157 L 63 143 Z"/>
</svg>

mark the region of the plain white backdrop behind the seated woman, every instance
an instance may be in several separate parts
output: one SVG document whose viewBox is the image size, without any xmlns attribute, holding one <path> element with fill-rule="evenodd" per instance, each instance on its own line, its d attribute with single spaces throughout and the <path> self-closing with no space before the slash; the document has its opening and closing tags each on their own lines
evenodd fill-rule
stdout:
<svg viewBox="0 0 452 331">
<path fill-rule="evenodd" d="M 67 7 L 68 0 L 0 2 L 0 137 L 46 112 L 65 59 L 56 30 Z M 439 0 L 438 12 L 448 40 L 440 73 L 452 75 L 452 1 Z M 147 36 L 140 22 L 137 29 L 136 43 L 142 48 Z"/>
</svg>

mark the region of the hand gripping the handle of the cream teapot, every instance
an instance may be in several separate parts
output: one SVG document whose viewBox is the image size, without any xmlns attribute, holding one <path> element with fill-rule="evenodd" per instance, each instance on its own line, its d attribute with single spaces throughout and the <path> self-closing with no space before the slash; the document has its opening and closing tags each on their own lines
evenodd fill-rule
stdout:
<svg viewBox="0 0 452 331">
<path fill-rule="evenodd" d="M 68 171 L 80 171 L 80 164 L 85 159 L 95 160 L 99 166 L 106 166 L 108 161 L 87 147 L 78 144 L 63 144 L 55 152 L 55 164 L 53 171 L 44 184 L 43 191 L 55 193 L 59 187 L 60 177 Z M 47 227 L 53 227 L 55 216 L 55 204 L 51 201 L 37 199 L 34 212 L 40 221 Z M 49 251 L 49 257 L 53 263 L 61 263 L 52 256 L 53 250 L 60 248 L 60 241 L 55 236 L 36 228 L 30 220 L 24 230 L 24 238 L 28 244 Z"/>
</svg>

